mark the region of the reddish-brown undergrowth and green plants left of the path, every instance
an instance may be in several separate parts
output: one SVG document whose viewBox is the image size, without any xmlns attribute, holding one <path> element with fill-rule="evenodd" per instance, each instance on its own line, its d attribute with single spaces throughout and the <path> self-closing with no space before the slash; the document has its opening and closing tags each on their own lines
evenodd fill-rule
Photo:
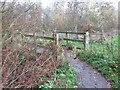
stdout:
<svg viewBox="0 0 120 90">
<path fill-rule="evenodd" d="M 30 39 L 12 42 L 2 49 L 2 88 L 77 87 L 75 72 L 62 53 L 54 42 L 45 44 L 42 53 L 36 52 L 35 43 Z"/>
</svg>

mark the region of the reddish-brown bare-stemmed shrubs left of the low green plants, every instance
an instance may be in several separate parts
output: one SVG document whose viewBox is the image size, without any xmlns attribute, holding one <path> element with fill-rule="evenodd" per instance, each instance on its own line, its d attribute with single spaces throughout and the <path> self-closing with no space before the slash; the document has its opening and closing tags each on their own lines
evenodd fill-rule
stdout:
<svg viewBox="0 0 120 90">
<path fill-rule="evenodd" d="M 46 80 L 40 81 L 40 78 L 54 77 L 55 69 L 61 64 L 57 58 L 60 48 L 54 43 L 46 45 L 42 54 L 36 54 L 27 48 L 11 50 L 10 47 L 3 49 L 2 53 L 3 88 L 28 88 L 44 84 Z"/>
</svg>

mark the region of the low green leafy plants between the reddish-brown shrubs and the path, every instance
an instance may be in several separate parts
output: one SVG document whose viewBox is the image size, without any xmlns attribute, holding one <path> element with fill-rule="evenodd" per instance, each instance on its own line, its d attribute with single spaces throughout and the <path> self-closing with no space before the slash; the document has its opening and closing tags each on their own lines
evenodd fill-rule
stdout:
<svg viewBox="0 0 120 90">
<path fill-rule="evenodd" d="M 63 60 L 62 64 L 54 73 L 56 78 L 49 80 L 47 77 L 47 83 L 40 85 L 39 88 L 77 88 L 77 79 L 74 69 L 69 65 L 67 60 Z"/>
</svg>

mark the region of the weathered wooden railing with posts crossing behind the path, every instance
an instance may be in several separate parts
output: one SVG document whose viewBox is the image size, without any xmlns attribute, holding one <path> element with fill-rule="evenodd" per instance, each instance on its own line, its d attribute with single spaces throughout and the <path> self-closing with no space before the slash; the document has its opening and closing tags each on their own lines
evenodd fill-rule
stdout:
<svg viewBox="0 0 120 90">
<path fill-rule="evenodd" d="M 65 38 L 60 38 L 60 34 L 66 34 Z M 75 35 L 82 35 L 82 39 L 70 39 L 69 35 L 75 34 Z M 60 40 L 72 41 L 72 42 L 82 42 L 84 44 L 84 50 L 89 49 L 89 32 L 53 32 L 53 37 L 46 37 L 45 32 L 43 32 L 42 36 L 37 35 L 36 33 L 32 34 L 23 34 L 25 37 L 34 37 L 35 39 L 41 38 L 41 39 L 47 39 L 47 40 L 54 40 L 55 44 L 58 45 Z M 44 43 L 44 40 L 43 40 Z"/>
</svg>

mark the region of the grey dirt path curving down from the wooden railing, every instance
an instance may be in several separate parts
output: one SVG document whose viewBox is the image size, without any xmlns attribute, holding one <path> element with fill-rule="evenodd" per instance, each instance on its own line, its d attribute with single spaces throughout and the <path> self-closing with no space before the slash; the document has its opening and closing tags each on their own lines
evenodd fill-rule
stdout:
<svg viewBox="0 0 120 90">
<path fill-rule="evenodd" d="M 80 59 L 74 59 L 73 53 L 65 52 L 66 57 L 70 60 L 70 64 L 74 67 L 80 88 L 110 88 L 107 80 L 91 65 Z"/>
</svg>

